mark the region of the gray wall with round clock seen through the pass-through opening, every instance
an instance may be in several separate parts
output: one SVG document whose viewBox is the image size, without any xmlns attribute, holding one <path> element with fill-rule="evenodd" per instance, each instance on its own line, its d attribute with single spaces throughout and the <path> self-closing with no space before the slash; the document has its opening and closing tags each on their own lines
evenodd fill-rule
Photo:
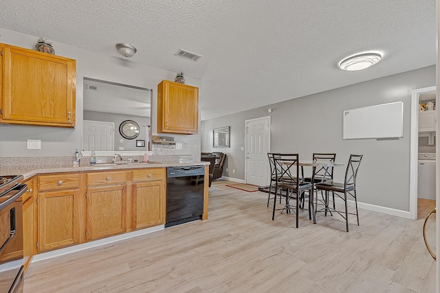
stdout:
<svg viewBox="0 0 440 293">
<path fill-rule="evenodd" d="M 142 116 L 133 116 L 133 115 L 124 115 L 124 114 L 115 114 L 115 113 L 103 113 L 96 111 L 83 111 L 84 120 L 92 120 L 92 121 L 104 121 L 104 122 L 113 122 L 115 124 L 115 152 L 118 152 L 119 147 L 124 147 L 124 150 L 133 150 L 143 152 L 146 151 L 148 147 L 148 139 L 147 139 L 147 126 L 150 125 L 150 117 L 142 117 Z M 125 139 L 119 132 L 119 126 L 122 121 L 125 120 L 133 120 L 140 126 L 139 136 L 135 139 Z M 120 143 L 120 139 L 124 142 Z M 140 148 L 136 146 L 136 140 L 143 139 L 145 141 L 145 147 Z"/>
</svg>

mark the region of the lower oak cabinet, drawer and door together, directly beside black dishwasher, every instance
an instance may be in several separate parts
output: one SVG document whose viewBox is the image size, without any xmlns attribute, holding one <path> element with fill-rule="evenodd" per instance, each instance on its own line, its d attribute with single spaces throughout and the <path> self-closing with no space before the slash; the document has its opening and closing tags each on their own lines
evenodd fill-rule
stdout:
<svg viewBox="0 0 440 293">
<path fill-rule="evenodd" d="M 134 229 L 165 224 L 165 170 L 133 171 L 131 226 Z"/>
</svg>

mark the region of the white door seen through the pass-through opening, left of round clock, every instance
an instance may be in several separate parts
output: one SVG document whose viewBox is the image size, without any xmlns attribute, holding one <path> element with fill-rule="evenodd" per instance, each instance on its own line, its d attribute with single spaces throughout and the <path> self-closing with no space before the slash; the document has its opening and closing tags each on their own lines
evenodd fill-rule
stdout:
<svg viewBox="0 0 440 293">
<path fill-rule="evenodd" d="M 96 151 L 114 150 L 113 122 L 83 121 L 83 149 Z"/>
</svg>

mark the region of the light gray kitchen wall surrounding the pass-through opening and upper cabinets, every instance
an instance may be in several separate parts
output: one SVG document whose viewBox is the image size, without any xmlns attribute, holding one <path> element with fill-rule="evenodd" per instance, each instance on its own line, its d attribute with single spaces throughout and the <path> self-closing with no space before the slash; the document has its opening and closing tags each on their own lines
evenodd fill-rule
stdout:
<svg viewBox="0 0 440 293">
<path fill-rule="evenodd" d="M 1 43 L 33 49 L 39 36 L 20 34 L 0 27 Z M 75 149 L 83 148 L 83 78 L 95 78 L 120 84 L 153 89 L 151 100 L 151 131 L 156 132 L 157 84 L 162 80 L 174 80 L 176 73 L 144 65 L 133 60 L 106 56 L 63 43 L 52 43 L 56 54 L 76 60 L 76 127 L 17 126 L 0 124 L 0 156 L 74 156 Z M 115 49 L 115 56 L 117 52 Z M 173 58 L 173 56 L 170 56 Z M 200 88 L 201 80 L 185 76 L 186 84 Z M 200 91 L 199 91 L 200 92 Z M 200 119 L 199 119 L 200 121 Z M 200 134 L 175 134 L 175 141 L 182 143 L 182 150 L 166 154 L 192 154 L 200 156 Z M 41 150 L 28 150 L 27 139 L 41 139 Z"/>
</svg>

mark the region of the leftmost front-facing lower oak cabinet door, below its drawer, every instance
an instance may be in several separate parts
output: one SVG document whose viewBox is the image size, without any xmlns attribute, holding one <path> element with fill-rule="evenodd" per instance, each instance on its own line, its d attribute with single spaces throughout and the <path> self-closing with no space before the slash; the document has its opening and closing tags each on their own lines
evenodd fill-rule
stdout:
<svg viewBox="0 0 440 293">
<path fill-rule="evenodd" d="M 79 196 L 78 190 L 39 194 L 39 252 L 80 242 Z"/>
</svg>

